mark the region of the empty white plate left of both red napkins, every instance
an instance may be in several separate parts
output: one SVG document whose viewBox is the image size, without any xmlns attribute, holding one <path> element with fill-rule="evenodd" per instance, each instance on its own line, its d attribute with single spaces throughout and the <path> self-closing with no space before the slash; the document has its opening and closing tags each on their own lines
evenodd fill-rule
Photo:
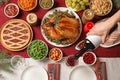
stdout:
<svg viewBox="0 0 120 80">
<path fill-rule="evenodd" d="M 48 80 L 48 74 L 41 66 L 29 66 L 23 71 L 21 80 Z"/>
</svg>

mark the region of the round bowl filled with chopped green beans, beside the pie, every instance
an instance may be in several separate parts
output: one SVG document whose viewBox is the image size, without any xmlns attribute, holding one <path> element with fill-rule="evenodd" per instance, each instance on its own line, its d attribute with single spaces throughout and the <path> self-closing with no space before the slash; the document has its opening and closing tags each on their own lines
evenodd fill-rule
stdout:
<svg viewBox="0 0 120 80">
<path fill-rule="evenodd" d="M 28 46 L 28 56 L 34 60 L 43 60 L 48 54 L 48 46 L 42 40 L 34 40 Z"/>
</svg>

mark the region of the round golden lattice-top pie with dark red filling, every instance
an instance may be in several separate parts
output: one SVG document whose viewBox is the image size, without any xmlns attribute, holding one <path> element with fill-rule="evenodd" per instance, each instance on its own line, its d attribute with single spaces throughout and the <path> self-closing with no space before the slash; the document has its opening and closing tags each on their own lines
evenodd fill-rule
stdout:
<svg viewBox="0 0 120 80">
<path fill-rule="evenodd" d="M 3 24 L 1 29 L 1 43 L 11 51 L 25 49 L 33 38 L 30 25 L 21 19 L 12 19 Z"/>
</svg>

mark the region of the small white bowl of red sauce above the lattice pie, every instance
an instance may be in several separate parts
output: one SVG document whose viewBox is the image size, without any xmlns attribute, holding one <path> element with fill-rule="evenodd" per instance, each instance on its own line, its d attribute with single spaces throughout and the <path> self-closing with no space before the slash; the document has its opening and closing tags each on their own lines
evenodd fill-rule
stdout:
<svg viewBox="0 0 120 80">
<path fill-rule="evenodd" d="M 4 8 L 4 14 L 5 14 L 5 16 L 7 16 L 9 18 L 14 18 L 19 14 L 19 7 L 14 3 L 9 3 Z"/>
</svg>

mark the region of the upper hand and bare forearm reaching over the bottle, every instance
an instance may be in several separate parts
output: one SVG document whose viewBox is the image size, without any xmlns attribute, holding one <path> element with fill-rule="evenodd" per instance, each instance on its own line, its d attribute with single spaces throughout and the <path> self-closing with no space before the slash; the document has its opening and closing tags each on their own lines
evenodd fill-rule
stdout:
<svg viewBox="0 0 120 80">
<path fill-rule="evenodd" d="M 118 10 L 113 16 L 108 18 L 104 22 L 96 23 L 95 26 L 87 33 L 88 35 L 99 35 L 102 37 L 102 42 L 104 43 L 106 37 L 112 27 L 114 27 L 117 22 L 120 21 L 120 10 Z"/>
</svg>

